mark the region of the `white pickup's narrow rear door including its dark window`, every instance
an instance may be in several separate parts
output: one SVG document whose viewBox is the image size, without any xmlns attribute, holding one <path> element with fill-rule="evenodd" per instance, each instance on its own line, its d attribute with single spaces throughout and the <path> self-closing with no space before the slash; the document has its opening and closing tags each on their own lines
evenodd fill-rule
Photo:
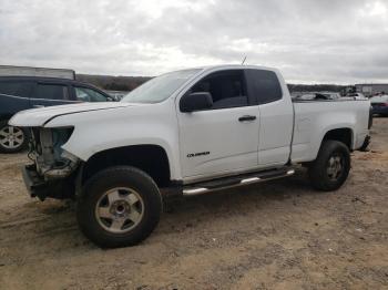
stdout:
<svg viewBox="0 0 388 290">
<path fill-rule="evenodd" d="M 289 158 L 294 127 L 294 110 L 280 75 L 269 70 L 247 69 L 249 95 L 255 96 L 261 112 L 258 165 L 285 165 Z M 285 84 L 284 84 L 285 85 Z"/>
</svg>

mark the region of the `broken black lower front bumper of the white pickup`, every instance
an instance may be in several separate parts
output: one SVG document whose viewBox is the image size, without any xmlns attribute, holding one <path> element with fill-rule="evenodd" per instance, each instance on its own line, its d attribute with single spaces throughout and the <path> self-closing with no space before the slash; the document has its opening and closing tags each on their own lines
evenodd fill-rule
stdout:
<svg viewBox="0 0 388 290">
<path fill-rule="evenodd" d="M 35 165 L 27 165 L 22 168 L 22 176 L 31 197 L 38 197 L 44 200 L 47 197 L 57 199 L 71 198 L 74 196 L 74 183 L 72 178 L 44 180 L 37 169 Z"/>
</svg>

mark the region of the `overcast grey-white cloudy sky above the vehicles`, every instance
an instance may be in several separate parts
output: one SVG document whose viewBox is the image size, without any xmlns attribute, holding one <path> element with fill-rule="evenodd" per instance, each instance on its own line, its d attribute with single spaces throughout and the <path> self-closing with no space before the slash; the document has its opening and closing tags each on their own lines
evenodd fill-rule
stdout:
<svg viewBox="0 0 388 290">
<path fill-rule="evenodd" d="M 0 0 L 0 64 L 156 75 L 223 63 L 388 82 L 388 1 Z"/>
</svg>

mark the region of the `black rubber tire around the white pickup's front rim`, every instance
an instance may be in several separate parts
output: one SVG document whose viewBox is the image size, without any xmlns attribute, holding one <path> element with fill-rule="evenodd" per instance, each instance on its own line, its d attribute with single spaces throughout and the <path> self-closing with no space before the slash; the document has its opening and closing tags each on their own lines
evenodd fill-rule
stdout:
<svg viewBox="0 0 388 290">
<path fill-rule="evenodd" d="M 111 232 L 112 228 L 104 228 L 109 225 L 104 224 L 103 218 L 98 217 L 96 213 L 101 208 L 99 203 L 102 203 L 99 200 L 103 200 L 101 198 L 105 198 L 104 195 L 108 196 L 106 193 L 112 188 L 122 187 L 134 190 L 141 199 L 143 214 L 137 221 L 139 224 L 134 225 L 129 231 Z M 114 203 L 109 199 L 108 204 L 109 214 L 111 215 Z M 160 220 L 162 205 L 159 188 L 147 174 L 130 166 L 115 166 L 95 174 L 86 182 L 78 199 L 76 219 L 81 231 L 102 248 L 134 246 L 147 238 L 154 230 Z M 109 221 L 108 219 L 106 222 L 109 224 Z"/>
</svg>

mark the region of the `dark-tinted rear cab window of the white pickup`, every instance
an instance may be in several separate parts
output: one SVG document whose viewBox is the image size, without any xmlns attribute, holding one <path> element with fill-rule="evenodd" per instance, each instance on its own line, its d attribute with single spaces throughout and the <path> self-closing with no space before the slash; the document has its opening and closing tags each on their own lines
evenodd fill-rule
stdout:
<svg viewBox="0 0 388 290">
<path fill-rule="evenodd" d="M 273 71 L 247 69 L 245 70 L 248 93 L 258 104 L 267 104 L 283 97 L 279 80 Z"/>
</svg>

